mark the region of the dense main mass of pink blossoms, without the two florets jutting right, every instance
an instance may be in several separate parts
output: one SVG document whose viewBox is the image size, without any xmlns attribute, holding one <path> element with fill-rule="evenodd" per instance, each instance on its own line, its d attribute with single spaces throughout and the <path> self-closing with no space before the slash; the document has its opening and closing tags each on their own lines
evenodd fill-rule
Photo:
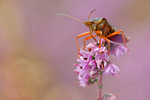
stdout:
<svg viewBox="0 0 150 100">
<path fill-rule="evenodd" d="M 101 51 L 101 53 L 100 53 Z M 90 43 L 86 46 L 86 50 L 79 51 L 79 58 L 77 61 L 80 63 L 75 69 L 78 74 L 79 85 L 86 87 L 93 84 L 100 71 L 103 71 L 109 60 L 106 47 L 102 46 L 99 49 L 96 43 Z"/>
</svg>

